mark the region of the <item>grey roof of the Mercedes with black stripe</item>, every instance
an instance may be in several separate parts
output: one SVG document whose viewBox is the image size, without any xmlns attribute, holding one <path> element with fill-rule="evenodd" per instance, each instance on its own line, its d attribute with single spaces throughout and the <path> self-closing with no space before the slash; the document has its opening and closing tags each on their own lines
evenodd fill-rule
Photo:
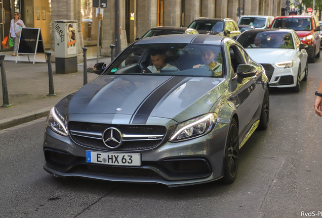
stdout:
<svg viewBox="0 0 322 218">
<path fill-rule="evenodd" d="M 223 38 L 227 37 L 206 34 L 172 34 L 143 38 L 136 41 L 135 44 L 198 43 L 220 45 Z"/>
</svg>

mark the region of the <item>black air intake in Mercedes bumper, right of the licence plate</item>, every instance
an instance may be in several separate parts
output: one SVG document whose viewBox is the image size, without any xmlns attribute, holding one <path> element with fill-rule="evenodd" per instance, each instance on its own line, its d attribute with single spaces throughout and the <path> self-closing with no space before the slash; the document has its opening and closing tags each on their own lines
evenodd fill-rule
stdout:
<svg viewBox="0 0 322 218">
<path fill-rule="evenodd" d="M 160 165 L 172 172 L 210 172 L 210 168 L 205 160 L 164 160 Z"/>
</svg>

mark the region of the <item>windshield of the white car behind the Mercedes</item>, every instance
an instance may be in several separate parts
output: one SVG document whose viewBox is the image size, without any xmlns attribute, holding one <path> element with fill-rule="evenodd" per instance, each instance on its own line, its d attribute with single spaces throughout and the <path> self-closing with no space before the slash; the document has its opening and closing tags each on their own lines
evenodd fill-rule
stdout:
<svg viewBox="0 0 322 218">
<path fill-rule="evenodd" d="M 254 32 L 246 31 L 237 41 L 244 48 L 286 48 L 294 49 L 291 33 L 286 32 Z"/>
</svg>

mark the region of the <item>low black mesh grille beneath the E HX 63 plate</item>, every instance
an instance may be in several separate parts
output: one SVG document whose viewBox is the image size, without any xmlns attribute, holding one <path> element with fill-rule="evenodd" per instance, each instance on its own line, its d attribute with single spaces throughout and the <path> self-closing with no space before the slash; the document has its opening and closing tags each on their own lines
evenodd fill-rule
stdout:
<svg viewBox="0 0 322 218">
<path fill-rule="evenodd" d="M 109 167 L 99 165 L 77 165 L 70 172 L 93 173 L 117 177 L 161 178 L 161 176 L 149 169 Z"/>
</svg>

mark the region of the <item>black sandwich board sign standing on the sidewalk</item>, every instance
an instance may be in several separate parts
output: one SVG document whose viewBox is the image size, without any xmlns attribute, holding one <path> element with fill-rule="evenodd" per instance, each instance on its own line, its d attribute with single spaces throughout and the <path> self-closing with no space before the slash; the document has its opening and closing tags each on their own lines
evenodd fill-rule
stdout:
<svg viewBox="0 0 322 218">
<path fill-rule="evenodd" d="M 36 60 L 36 53 L 45 53 L 45 46 L 40 28 L 22 28 L 20 33 L 19 45 L 16 63 L 18 61 L 19 54 L 22 55 L 34 55 L 33 64 Z M 46 58 L 46 55 L 45 55 Z"/>
</svg>

